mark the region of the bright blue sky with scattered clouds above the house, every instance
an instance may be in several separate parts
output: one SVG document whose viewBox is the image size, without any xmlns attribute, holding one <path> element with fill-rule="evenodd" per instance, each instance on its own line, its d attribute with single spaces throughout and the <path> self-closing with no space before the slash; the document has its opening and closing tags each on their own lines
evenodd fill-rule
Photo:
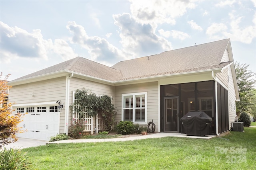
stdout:
<svg viewBox="0 0 256 170">
<path fill-rule="evenodd" d="M 77 56 L 112 66 L 226 38 L 256 72 L 256 0 L 0 0 L 8 80 Z"/>
</svg>

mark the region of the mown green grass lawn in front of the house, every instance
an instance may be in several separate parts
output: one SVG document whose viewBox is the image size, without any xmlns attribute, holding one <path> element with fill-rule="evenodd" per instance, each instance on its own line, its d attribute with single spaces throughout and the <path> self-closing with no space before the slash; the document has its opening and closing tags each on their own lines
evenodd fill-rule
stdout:
<svg viewBox="0 0 256 170">
<path fill-rule="evenodd" d="M 23 149 L 38 170 L 255 169 L 256 127 L 210 140 L 165 137 Z M 226 139 L 229 139 L 226 140 Z"/>
</svg>

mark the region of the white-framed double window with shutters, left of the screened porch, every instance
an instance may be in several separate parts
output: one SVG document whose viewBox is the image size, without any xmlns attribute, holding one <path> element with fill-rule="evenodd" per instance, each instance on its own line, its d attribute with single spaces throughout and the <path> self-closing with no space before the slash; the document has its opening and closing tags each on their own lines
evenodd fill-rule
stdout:
<svg viewBox="0 0 256 170">
<path fill-rule="evenodd" d="M 122 94 L 122 120 L 146 123 L 147 93 Z"/>
</svg>

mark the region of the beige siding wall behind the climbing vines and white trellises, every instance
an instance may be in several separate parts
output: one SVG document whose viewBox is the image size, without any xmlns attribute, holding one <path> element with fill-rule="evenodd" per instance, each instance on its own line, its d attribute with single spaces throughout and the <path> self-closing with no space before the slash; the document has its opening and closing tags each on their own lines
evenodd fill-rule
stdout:
<svg viewBox="0 0 256 170">
<path fill-rule="evenodd" d="M 111 96 L 113 98 L 112 102 L 114 104 L 114 86 L 72 77 L 70 79 L 69 106 L 72 106 L 72 91 L 75 92 L 77 89 L 82 90 L 83 88 L 88 90 L 87 92 L 90 92 L 91 90 L 97 96 L 102 96 L 102 95 Z M 70 111 L 70 113 L 68 114 L 68 124 L 71 124 L 71 123 L 72 123 L 72 112 Z M 95 126 L 96 126 L 96 118 L 94 116 L 93 128 L 95 128 Z"/>
</svg>

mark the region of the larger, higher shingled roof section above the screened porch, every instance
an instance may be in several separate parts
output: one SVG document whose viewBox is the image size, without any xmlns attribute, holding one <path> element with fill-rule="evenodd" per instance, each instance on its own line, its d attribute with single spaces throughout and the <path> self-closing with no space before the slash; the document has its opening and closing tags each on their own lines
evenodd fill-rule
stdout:
<svg viewBox="0 0 256 170">
<path fill-rule="evenodd" d="M 123 80 L 223 68 L 232 62 L 220 63 L 229 41 L 224 39 L 121 61 L 112 68 L 122 72 Z"/>
</svg>

